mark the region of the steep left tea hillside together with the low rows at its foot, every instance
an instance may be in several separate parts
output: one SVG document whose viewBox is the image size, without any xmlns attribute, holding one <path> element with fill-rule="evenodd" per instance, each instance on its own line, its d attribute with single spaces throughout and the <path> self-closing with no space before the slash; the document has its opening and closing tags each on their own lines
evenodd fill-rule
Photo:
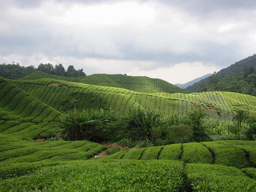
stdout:
<svg viewBox="0 0 256 192">
<path fill-rule="evenodd" d="M 52 141 L 60 112 L 0 77 L 0 164 L 88 159 L 105 149 L 90 141 Z"/>
</svg>

